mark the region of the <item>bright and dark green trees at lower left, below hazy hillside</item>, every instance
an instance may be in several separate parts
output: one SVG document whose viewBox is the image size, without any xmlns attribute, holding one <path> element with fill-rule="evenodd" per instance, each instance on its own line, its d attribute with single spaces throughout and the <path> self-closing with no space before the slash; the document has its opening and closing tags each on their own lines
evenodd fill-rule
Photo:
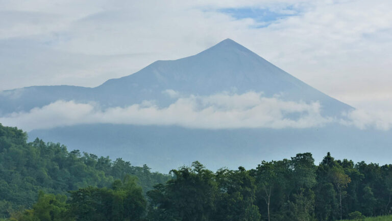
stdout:
<svg viewBox="0 0 392 221">
<path fill-rule="evenodd" d="M 39 192 L 31 209 L 13 213 L 17 221 L 110 220 L 140 221 L 145 215 L 146 201 L 137 178 L 127 175 L 123 182 L 114 181 L 112 188 L 87 187 L 66 195 Z"/>
</svg>

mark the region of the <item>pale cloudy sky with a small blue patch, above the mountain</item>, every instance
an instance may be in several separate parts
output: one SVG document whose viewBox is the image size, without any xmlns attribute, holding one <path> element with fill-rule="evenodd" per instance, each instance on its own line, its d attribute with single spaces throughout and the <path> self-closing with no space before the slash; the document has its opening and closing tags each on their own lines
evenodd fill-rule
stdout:
<svg viewBox="0 0 392 221">
<path fill-rule="evenodd" d="M 342 102 L 386 113 L 390 11 L 390 0 L 0 0 L 0 91 L 93 87 L 231 38 Z"/>
</svg>

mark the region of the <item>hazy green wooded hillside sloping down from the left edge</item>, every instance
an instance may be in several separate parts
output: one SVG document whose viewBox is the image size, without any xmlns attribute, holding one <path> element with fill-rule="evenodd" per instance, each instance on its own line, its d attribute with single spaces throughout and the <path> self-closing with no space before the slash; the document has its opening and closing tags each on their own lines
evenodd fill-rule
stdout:
<svg viewBox="0 0 392 221">
<path fill-rule="evenodd" d="M 32 208 L 39 190 L 69 196 L 68 191 L 88 186 L 110 187 L 128 174 L 137 176 L 144 192 L 171 179 L 146 165 L 132 166 L 122 159 L 111 161 L 79 150 L 68 152 L 59 143 L 38 138 L 27 143 L 26 132 L 0 124 L 0 217 Z"/>
</svg>

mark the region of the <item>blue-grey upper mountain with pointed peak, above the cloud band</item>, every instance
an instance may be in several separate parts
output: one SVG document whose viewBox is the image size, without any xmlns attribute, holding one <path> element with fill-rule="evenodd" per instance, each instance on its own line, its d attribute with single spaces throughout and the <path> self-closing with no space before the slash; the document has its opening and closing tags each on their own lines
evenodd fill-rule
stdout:
<svg viewBox="0 0 392 221">
<path fill-rule="evenodd" d="M 103 106 L 127 106 L 144 100 L 156 100 L 161 106 L 174 101 L 165 90 L 183 95 L 211 95 L 219 92 L 242 94 L 263 92 L 266 97 L 281 95 L 290 101 L 319 101 L 323 114 L 338 116 L 352 109 L 349 105 L 315 90 L 313 87 L 269 63 L 231 39 L 190 57 L 156 61 L 126 77 L 110 79 L 100 86 L 31 86 L 0 93 L 2 115 L 29 111 L 57 100 L 95 101 Z"/>
</svg>

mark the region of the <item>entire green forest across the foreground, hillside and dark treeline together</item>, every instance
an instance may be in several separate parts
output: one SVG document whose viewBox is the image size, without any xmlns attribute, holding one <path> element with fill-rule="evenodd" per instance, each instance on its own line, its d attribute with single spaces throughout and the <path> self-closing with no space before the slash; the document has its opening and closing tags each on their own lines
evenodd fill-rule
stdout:
<svg viewBox="0 0 392 221">
<path fill-rule="evenodd" d="M 389 215 L 391 194 L 391 164 L 330 153 L 318 165 L 298 153 L 252 169 L 214 172 L 193 162 L 161 174 L 28 143 L 26 132 L 0 124 L 0 220 L 363 220 Z"/>
</svg>

